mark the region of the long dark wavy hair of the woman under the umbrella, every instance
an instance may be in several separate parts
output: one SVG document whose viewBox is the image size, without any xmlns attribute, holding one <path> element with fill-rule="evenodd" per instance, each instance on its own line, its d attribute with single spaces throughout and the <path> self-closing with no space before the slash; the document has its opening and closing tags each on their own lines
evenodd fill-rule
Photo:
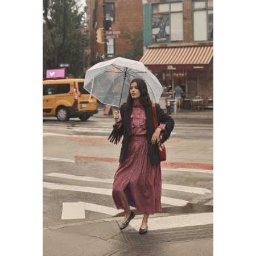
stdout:
<svg viewBox="0 0 256 256">
<path fill-rule="evenodd" d="M 147 91 L 146 82 L 143 79 L 133 79 L 130 82 L 130 85 L 133 82 L 137 82 L 139 92 L 141 93 L 141 96 L 139 97 L 139 102 L 146 109 L 148 106 L 151 105 L 151 100 L 150 100 L 150 96 L 149 96 L 148 91 Z M 133 98 L 131 97 L 130 89 L 129 89 L 129 94 L 128 94 L 128 97 L 127 97 L 126 104 L 127 104 L 128 108 L 132 108 L 133 107 Z"/>
</svg>

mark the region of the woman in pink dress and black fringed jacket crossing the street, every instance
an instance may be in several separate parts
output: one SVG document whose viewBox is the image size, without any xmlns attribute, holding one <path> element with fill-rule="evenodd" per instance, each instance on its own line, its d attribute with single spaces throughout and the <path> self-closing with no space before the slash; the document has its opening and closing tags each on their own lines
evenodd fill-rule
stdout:
<svg viewBox="0 0 256 256">
<path fill-rule="evenodd" d="M 120 164 L 114 176 L 112 192 L 117 209 L 125 210 L 121 230 L 135 216 L 130 206 L 144 213 L 140 234 L 147 233 L 149 215 L 162 212 L 158 143 L 170 137 L 174 119 L 164 113 L 159 104 L 156 104 L 156 115 L 159 126 L 155 129 L 146 82 L 142 79 L 131 81 L 127 102 L 121 105 L 119 112 L 114 113 L 114 129 L 109 137 L 110 142 L 117 144 L 123 135 Z"/>
</svg>

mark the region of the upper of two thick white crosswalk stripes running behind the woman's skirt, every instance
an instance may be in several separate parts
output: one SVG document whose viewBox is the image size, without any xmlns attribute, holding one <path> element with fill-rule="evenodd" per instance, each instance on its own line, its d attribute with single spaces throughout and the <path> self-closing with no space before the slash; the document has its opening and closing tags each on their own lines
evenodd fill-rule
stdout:
<svg viewBox="0 0 256 256">
<path fill-rule="evenodd" d="M 45 176 L 51 177 L 61 177 L 64 179 L 72 179 L 72 180 L 82 180 L 82 181 L 93 181 L 93 182 L 102 182 L 102 183 L 111 183 L 113 184 L 113 179 L 101 179 L 97 177 L 86 177 L 86 176 L 76 176 L 72 174 L 60 174 L 53 172 L 51 174 L 46 174 Z M 162 184 L 162 189 L 174 190 L 174 191 L 182 191 L 188 193 L 196 193 L 200 195 L 204 195 L 204 193 L 211 193 L 206 188 L 196 188 L 196 187 L 188 187 L 188 186 L 181 186 L 181 185 L 172 185 L 172 184 Z"/>
</svg>

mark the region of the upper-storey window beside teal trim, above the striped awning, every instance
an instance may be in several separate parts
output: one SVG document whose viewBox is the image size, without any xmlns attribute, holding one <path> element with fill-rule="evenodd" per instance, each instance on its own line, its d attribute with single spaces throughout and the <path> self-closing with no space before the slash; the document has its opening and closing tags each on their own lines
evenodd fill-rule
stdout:
<svg viewBox="0 0 256 256">
<path fill-rule="evenodd" d="M 152 3 L 152 43 L 183 42 L 182 1 Z"/>
</svg>

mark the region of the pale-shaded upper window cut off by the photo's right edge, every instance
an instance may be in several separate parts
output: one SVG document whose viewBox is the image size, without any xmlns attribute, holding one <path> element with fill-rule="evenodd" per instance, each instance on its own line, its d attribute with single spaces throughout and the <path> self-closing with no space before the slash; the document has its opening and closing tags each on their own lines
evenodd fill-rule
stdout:
<svg viewBox="0 0 256 256">
<path fill-rule="evenodd" d="M 193 1 L 193 39 L 213 40 L 213 0 Z"/>
</svg>

